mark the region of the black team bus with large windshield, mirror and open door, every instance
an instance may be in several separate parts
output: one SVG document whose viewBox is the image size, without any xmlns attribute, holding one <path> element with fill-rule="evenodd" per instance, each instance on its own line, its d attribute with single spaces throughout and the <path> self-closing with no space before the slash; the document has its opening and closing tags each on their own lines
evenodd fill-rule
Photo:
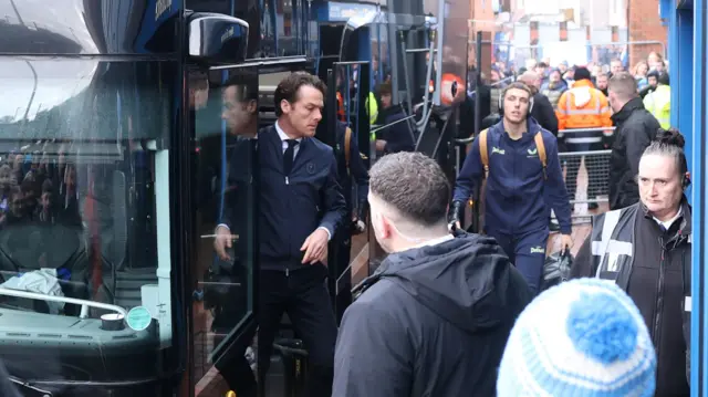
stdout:
<svg viewBox="0 0 708 397">
<path fill-rule="evenodd" d="M 409 3 L 389 2 L 388 11 Z M 332 70 L 357 64 L 374 75 L 354 84 L 354 102 L 364 103 L 377 79 L 415 63 L 406 46 L 392 58 L 391 41 L 441 48 L 441 32 L 419 32 L 435 29 L 430 19 L 383 18 L 378 4 L 377 17 L 346 24 L 344 8 L 304 0 L 0 4 L 0 359 L 23 395 L 221 393 L 212 388 L 215 365 L 244 354 L 257 327 L 258 167 L 252 150 L 239 156 L 247 182 L 230 191 L 231 150 L 272 121 L 268 107 L 284 73 L 334 82 Z M 326 10 L 336 18 L 322 17 Z M 356 49 L 339 49 L 320 69 L 322 35 L 333 24 L 340 45 Z M 373 25 L 385 27 L 387 39 L 371 41 Z M 430 58 L 428 71 L 413 69 L 406 84 L 415 85 L 416 73 L 435 80 L 434 59 L 445 64 Z M 408 85 L 396 84 L 395 96 L 406 96 Z M 335 117 L 332 106 L 327 113 Z M 424 118 L 414 118 L 417 128 Z M 369 127 L 357 128 L 362 144 Z M 317 134 L 333 142 L 331 127 Z M 227 199 L 239 219 L 229 261 L 212 248 Z"/>
</svg>

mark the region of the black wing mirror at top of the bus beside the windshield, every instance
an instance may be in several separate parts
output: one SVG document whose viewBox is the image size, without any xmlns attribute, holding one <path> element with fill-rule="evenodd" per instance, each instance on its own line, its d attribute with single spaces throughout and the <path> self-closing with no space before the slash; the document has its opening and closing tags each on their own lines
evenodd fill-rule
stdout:
<svg viewBox="0 0 708 397">
<path fill-rule="evenodd" d="M 188 20 L 187 40 L 192 61 L 238 63 L 246 60 L 248 22 L 207 12 L 191 13 Z"/>
</svg>

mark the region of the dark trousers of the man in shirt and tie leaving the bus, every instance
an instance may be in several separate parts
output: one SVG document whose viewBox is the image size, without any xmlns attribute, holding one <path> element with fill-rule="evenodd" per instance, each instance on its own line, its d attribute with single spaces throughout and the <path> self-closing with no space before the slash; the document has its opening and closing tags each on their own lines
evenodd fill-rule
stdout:
<svg viewBox="0 0 708 397">
<path fill-rule="evenodd" d="M 259 280 L 258 373 L 270 367 L 273 342 L 283 313 L 308 349 L 306 396 L 331 397 L 334 376 L 336 323 L 325 284 L 327 270 L 321 264 L 284 271 L 262 270 Z"/>
</svg>

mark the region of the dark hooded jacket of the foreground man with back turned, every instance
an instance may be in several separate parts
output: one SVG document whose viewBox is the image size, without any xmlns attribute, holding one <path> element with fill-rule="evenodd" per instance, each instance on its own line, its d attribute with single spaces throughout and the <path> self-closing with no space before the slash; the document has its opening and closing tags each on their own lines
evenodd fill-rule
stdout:
<svg viewBox="0 0 708 397">
<path fill-rule="evenodd" d="M 346 310 L 333 396 L 493 396 L 528 285 L 496 240 L 455 239 L 389 254 Z"/>
</svg>

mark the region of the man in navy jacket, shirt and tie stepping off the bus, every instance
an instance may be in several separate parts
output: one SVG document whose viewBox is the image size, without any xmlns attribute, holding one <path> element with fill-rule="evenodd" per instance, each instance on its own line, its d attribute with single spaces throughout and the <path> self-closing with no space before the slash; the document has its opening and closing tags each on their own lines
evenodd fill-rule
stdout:
<svg viewBox="0 0 708 397">
<path fill-rule="evenodd" d="M 259 357 L 270 366 L 283 312 L 309 352 L 308 396 L 332 395 L 336 323 L 325 285 L 327 243 L 346 217 L 333 149 L 314 138 L 326 87 L 292 73 L 275 90 L 273 126 L 258 134 Z M 230 220 L 217 228 L 217 252 L 231 244 Z"/>
</svg>

